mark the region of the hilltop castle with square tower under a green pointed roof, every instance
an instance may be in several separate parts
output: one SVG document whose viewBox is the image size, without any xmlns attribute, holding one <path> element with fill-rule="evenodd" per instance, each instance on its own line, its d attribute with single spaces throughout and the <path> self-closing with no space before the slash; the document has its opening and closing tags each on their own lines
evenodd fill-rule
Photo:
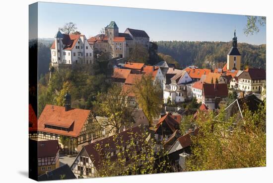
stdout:
<svg viewBox="0 0 273 183">
<path fill-rule="evenodd" d="M 88 43 L 95 52 L 109 53 L 109 59 L 129 57 L 130 50 L 138 44 L 149 48 L 149 36 L 144 30 L 127 28 L 124 33 L 119 32 L 115 21 L 111 21 L 104 29 L 104 33 L 88 39 Z"/>
</svg>

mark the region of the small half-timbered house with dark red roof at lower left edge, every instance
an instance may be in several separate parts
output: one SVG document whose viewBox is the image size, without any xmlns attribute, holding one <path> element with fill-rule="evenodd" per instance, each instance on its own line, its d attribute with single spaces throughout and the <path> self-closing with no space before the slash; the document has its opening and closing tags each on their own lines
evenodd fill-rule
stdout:
<svg viewBox="0 0 273 183">
<path fill-rule="evenodd" d="M 38 176 L 60 167 L 60 147 L 57 140 L 36 141 L 38 155 Z"/>
</svg>

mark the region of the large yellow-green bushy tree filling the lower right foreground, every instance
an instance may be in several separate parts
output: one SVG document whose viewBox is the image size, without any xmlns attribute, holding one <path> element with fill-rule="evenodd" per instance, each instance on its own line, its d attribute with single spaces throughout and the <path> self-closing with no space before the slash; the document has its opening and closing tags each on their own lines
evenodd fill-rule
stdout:
<svg viewBox="0 0 273 183">
<path fill-rule="evenodd" d="M 266 103 L 254 113 L 247 107 L 242 112 L 241 120 L 227 120 L 223 110 L 217 118 L 212 112 L 198 116 L 187 171 L 266 166 Z"/>
</svg>

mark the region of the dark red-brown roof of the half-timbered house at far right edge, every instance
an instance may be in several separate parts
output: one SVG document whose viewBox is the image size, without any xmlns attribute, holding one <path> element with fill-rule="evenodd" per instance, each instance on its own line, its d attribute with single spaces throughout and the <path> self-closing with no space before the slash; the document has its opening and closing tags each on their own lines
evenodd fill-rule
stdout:
<svg viewBox="0 0 273 183">
<path fill-rule="evenodd" d="M 266 80 L 266 71 L 259 68 L 249 68 L 240 74 L 238 78 L 246 80 Z"/>
</svg>

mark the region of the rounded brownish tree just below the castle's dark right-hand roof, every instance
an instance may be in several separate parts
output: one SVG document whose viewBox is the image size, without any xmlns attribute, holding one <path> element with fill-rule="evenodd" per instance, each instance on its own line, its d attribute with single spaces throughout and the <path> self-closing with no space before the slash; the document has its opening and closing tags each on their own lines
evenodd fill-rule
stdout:
<svg viewBox="0 0 273 183">
<path fill-rule="evenodd" d="M 128 60 L 131 62 L 146 63 L 148 59 L 148 50 L 141 44 L 134 44 L 132 50 L 129 52 Z"/>
</svg>

